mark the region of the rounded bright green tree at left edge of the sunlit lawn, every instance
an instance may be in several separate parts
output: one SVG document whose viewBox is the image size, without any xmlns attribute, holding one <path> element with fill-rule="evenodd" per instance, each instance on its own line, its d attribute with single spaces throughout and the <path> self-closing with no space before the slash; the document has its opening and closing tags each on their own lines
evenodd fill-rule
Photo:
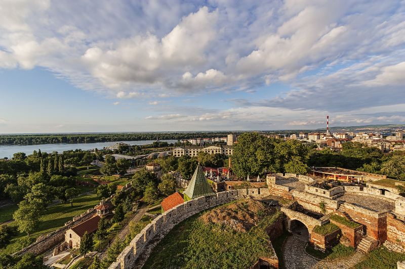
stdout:
<svg viewBox="0 0 405 269">
<path fill-rule="evenodd" d="M 22 233 L 33 232 L 39 224 L 39 217 L 43 213 L 40 204 L 28 203 L 23 200 L 18 204 L 18 209 L 13 214 L 13 219 L 18 225 L 18 230 Z"/>
</svg>

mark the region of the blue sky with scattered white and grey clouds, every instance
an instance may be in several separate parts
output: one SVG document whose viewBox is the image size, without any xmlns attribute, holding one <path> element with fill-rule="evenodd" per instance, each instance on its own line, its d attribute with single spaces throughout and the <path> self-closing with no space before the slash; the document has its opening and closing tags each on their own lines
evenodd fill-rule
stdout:
<svg viewBox="0 0 405 269">
<path fill-rule="evenodd" d="M 405 1 L 0 0 L 0 133 L 405 123 Z"/>
</svg>

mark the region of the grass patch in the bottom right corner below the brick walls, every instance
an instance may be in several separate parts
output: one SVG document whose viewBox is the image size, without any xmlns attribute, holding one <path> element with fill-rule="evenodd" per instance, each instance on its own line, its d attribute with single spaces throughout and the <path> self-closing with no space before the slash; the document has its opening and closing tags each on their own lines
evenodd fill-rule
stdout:
<svg viewBox="0 0 405 269">
<path fill-rule="evenodd" d="M 366 254 L 366 259 L 354 266 L 356 269 L 396 269 L 396 262 L 405 260 L 405 254 L 389 251 L 384 246 Z"/>
</svg>

